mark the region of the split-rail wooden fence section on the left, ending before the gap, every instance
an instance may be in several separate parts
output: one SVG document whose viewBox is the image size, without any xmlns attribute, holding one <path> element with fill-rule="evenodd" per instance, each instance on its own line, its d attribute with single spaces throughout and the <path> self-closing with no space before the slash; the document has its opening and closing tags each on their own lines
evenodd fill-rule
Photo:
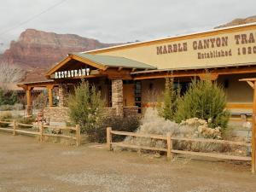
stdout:
<svg viewBox="0 0 256 192">
<path fill-rule="evenodd" d="M 15 120 L 10 121 L 0 121 L 0 124 L 7 124 L 9 127 L 3 128 L 0 127 L 0 131 L 9 131 L 13 132 L 13 135 L 15 136 L 16 133 L 23 133 L 27 135 L 36 135 L 39 136 L 40 141 L 43 142 L 44 137 L 64 137 L 64 138 L 70 138 L 76 141 L 77 146 L 81 143 L 81 132 L 79 125 L 76 125 L 75 127 L 65 127 L 65 126 L 51 126 L 51 125 L 29 125 L 29 124 L 22 124 L 18 123 Z M 28 131 L 28 130 L 21 130 L 19 127 L 36 127 L 36 131 Z M 61 130 L 69 130 L 69 131 L 75 131 L 75 136 L 67 136 L 62 134 L 54 134 L 54 133 L 46 133 L 44 132 L 45 129 L 51 129 L 55 131 L 61 131 Z"/>
</svg>

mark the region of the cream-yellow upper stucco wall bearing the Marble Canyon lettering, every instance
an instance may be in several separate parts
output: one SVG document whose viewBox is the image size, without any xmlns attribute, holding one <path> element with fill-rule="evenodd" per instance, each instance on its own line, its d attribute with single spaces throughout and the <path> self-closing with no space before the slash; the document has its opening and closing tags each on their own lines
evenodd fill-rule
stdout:
<svg viewBox="0 0 256 192">
<path fill-rule="evenodd" d="M 246 36 L 246 38 L 244 38 Z M 237 42 L 236 42 L 237 41 Z M 204 44 L 206 42 L 206 44 Z M 215 43 L 214 43 L 215 42 Z M 238 44 L 237 44 L 238 43 Z M 174 52 L 175 44 L 180 44 L 180 52 Z M 187 44 L 185 47 L 183 44 Z M 207 48 L 208 44 L 208 48 Z M 160 46 L 162 52 L 157 54 Z M 168 53 L 168 46 L 172 47 L 172 53 Z M 212 48 L 213 46 L 213 48 Z M 219 46 L 219 47 L 218 47 Z M 200 49 L 202 48 L 202 49 Z M 181 51 L 183 49 L 183 51 Z M 184 51 L 184 49 L 186 51 Z M 239 55 L 239 49 L 241 55 Z M 246 54 L 242 54 L 242 50 Z M 250 51 L 251 50 L 251 51 Z M 171 49 L 169 50 L 171 51 Z M 198 53 L 212 54 L 216 51 L 225 51 L 227 55 L 199 59 Z M 251 54 L 249 54 L 251 52 Z M 203 32 L 194 35 L 181 36 L 177 38 L 166 38 L 141 44 L 127 45 L 116 49 L 105 49 L 92 51 L 90 53 L 100 55 L 123 56 L 136 61 L 142 61 L 149 65 L 165 68 L 188 68 L 188 67 L 218 67 L 236 65 L 242 63 L 256 62 L 256 24 L 251 26 L 240 26 L 225 30 Z"/>
</svg>

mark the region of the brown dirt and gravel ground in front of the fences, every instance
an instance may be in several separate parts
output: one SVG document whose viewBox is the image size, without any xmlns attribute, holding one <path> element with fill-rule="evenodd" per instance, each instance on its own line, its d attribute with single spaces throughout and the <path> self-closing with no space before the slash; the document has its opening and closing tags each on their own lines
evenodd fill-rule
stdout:
<svg viewBox="0 0 256 192">
<path fill-rule="evenodd" d="M 254 192 L 250 166 L 38 143 L 0 132 L 0 192 Z"/>
</svg>

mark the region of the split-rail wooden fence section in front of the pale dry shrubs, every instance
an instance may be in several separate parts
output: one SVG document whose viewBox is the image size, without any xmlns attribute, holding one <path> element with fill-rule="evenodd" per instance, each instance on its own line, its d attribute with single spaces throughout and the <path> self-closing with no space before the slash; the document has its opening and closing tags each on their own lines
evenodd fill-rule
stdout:
<svg viewBox="0 0 256 192">
<path fill-rule="evenodd" d="M 166 141 L 166 148 L 152 148 L 148 146 L 137 146 L 125 143 L 113 143 L 112 135 L 119 136 L 130 136 L 130 137 L 147 137 L 152 139 L 159 139 Z M 214 154 L 214 153 L 202 153 L 202 152 L 194 152 L 194 151 L 183 151 L 176 150 L 172 148 L 173 141 L 185 141 L 185 142 L 199 142 L 199 143 L 221 143 L 221 144 L 230 144 L 230 145 L 238 145 L 238 146 L 246 146 L 251 147 L 251 143 L 242 143 L 242 142 L 231 142 L 226 140 L 217 140 L 217 139 L 204 139 L 204 138 L 187 138 L 187 137 L 172 137 L 171 133 L 167 133 L 167 136 L 161 135 L 151 135 L 151 134 L 140 134 L 134 132 L 125 132 L 125 131 L 112 131 L 111 127 L 107 127 L 107 144 L 108 149 L 112 150 L 113 146 L 123 147 L 123 148 L 140 148 L 154 151 L 164 151 L 167 154 L 167 160 L 172 160 L 173 154 L 189 154 L 195 156 L 202 157 L 211 157 L 217 159 L 225 159 L 225 160 L 246 160 L 252 161 L 251 157 L 248 156 L 235 156 L 230 154 Z"/>
</svg>

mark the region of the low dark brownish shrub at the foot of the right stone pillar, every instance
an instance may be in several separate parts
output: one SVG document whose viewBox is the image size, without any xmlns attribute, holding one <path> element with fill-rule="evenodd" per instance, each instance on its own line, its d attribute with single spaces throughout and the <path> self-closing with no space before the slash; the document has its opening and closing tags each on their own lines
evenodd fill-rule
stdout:
<svg viewBox="0 0 256 192">
<path fill-rule="evenodd" d="M 101 125 L 88 133 L 91 142 L 105 143 L 106 142 L 106 128 L 111 127 L 114 131 L 137 131 L 140 126 L 140 119 L 137 116 L 120 117 L 120 116 L 106 116 L 102 119 Z M 114 141 L 122 141 L 125 137 L 113 135 Z"/>
</svg>

